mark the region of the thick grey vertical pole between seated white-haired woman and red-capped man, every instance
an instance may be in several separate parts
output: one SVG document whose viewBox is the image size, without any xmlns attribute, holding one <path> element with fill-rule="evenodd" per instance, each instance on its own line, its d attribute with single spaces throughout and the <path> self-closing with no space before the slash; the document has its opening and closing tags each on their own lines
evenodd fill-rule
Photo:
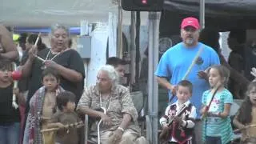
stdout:
<svg viewBox="0 0 256 144">
<path fill-rule="evenodd" d="M 158 82 L 154 78 L 154 70 L 158 66 L 159 12 L 149 13 L 149 122 L 146 134 L 151 144 L 158 144 Z"/>
</svg>

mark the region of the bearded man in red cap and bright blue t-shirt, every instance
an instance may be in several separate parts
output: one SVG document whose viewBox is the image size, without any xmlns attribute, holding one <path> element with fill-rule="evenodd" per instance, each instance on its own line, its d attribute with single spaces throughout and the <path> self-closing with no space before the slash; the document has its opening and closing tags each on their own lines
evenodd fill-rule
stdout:
<svg viewBox="0 0 256 144">
<path fill-rule="evenodd" d="M 202 125 L 200 113 L 202 105 L 202 94 L 210 90 L 207 76 L 204 71 L 209 66 L 220 64 L 218 54 L 210 47 L 198 42 L 200 25 L 197 18 L 184 18 L 181 24 L 182 42 L 172 46 L 162 55 L 155 71 L 158 83 L 169 90 L 170 102 L 177 101 L 173 97 L 175 86 L 183 79 L 189 80 L 193 84 L 193 94 L 190 102 L 197 108 L 197 119 L 195 126 L 195 140 L 197 144 L 202 143 Z M 195 63 L 192 62 L 195 59 Z"/>
</svg>

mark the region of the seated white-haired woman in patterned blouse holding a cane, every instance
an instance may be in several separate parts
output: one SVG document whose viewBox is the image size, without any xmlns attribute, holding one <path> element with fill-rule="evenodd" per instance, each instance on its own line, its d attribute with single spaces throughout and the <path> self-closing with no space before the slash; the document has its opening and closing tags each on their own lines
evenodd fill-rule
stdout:
<svg viewBox="0 0 256 144">
<path fill-rule="evenodd" d="M 106 114 L 98 111 L 101 107 Z M 100 139 L 102 144 L 144 144 L 138 127 L 138 112 L 129 90 L 118 84 L 118 73 L 113 66 L 102 66 L 98 71 L 97 84 L 88 87 L 78 102 L 78 112 L 101 118 Z M 94 132 L 96 130 L 92 130 Z"/>
</svg>

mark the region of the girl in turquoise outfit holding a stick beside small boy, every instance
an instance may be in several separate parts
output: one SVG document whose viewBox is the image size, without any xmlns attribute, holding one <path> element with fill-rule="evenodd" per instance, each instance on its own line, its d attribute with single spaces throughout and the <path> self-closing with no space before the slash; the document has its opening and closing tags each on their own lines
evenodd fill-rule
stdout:
<svg viewBox="0 0 256 144">
<path fill-rule="evenodd" d="M 230 71 L 221 65 L 209 69 L 211 89 L 202 94 L 203 129 L 202 139 L 207 144 L 227 144 L 233 140 L 234 133 L 230 124 L 230 107 L 233 96 L 225 86 Z"/>
</svg>

